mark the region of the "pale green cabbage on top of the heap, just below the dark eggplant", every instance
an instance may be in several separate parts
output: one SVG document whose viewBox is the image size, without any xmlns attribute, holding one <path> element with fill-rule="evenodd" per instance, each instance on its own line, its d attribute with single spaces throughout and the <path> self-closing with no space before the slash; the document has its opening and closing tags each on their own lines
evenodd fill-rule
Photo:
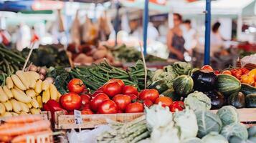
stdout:
<svg viewBox="0 0 256 143">
<path fill-rule="evenodd" d="M 194 111 L 211 109 L 211 99 L 203 92 L 194 92 L 186 97 L 184 104 Z"/>
</svg>

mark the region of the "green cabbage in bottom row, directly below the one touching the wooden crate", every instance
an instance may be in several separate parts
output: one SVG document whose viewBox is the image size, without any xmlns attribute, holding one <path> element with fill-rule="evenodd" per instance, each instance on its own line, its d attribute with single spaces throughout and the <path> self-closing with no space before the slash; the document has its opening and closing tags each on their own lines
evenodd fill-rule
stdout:
<svg viewBox="0 0 256 143">
<path fill-rule="evenodd" d="M 241 123 L 232 123 L 224 126 L 221 134 L 226 139 L 229 139 L 231 136 L 237 136 L 240 139 L 245 140 L 249 136 L 245 125 Z"/>
</svg>

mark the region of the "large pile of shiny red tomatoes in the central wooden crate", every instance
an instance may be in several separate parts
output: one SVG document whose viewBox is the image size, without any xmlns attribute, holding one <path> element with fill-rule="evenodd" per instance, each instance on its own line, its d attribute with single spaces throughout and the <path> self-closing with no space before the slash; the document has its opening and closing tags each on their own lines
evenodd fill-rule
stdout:
<svg viewBox="0 0 256 143">
<path fill-rule="evenodd" d="M 51 112 L 65 111 L 73 114 L 74 109 L 81 114 L 116 114 L 143 112 L 144 106 L 161 102 L 171 112 L 184 109 L 183 102 L 173 102 L 169 97 L 161 97 L 156 89 L 138 89 L 125 85 L 120 79 L 110 79 L 93 94 L 87 93 L 85 84 L 80 79 L 72 79 L 67 85 L 69 93 L 62 95 L 60 101 L 49 100 L 44 109 Z M 50 107 L 50 108 L 49 108 Z"/>
</svg>

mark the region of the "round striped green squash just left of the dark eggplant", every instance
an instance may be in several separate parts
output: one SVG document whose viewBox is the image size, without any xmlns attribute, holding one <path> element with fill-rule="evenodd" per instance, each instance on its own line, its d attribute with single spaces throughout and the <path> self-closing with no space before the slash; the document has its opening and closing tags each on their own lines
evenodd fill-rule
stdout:
<svg viewBox="0 0 256 143">
<path fill-rule="evenodd" d="M 174 91 L 181 95 L 182 97 L 186 97 L 187 94 L 193 91 L 194 82 L 193 79 L 187 75 L 181 75 L 174 79 Z"/>
</svg>

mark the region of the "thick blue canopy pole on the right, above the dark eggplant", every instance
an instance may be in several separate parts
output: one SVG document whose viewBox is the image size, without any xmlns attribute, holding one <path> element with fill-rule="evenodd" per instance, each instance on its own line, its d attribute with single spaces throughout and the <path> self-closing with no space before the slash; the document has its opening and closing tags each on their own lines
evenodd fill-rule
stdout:
<svg viewBox="0 0 256 143">
<path fill-rule="evenodd" d="M 205 9 L 205 41 L 204 41 L 204 65 L 210 64 L 210 39 L 211 39 L 211 0 L 206 0 Z"/>
</svg>

